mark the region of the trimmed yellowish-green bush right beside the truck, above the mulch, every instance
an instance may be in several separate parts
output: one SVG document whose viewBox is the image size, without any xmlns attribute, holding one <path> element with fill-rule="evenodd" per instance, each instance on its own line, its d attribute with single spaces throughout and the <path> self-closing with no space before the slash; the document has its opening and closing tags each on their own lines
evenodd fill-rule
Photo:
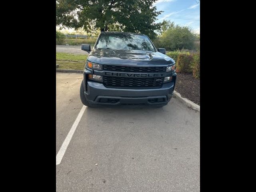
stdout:
<svg viewBox="0 0 256 192">
<path fill-rule="evenodd" d="M 176 62 L 176 71 L 181 73 L 192 72 L 193 56 L 190 54 L 179 54 Z"/>
</svg>

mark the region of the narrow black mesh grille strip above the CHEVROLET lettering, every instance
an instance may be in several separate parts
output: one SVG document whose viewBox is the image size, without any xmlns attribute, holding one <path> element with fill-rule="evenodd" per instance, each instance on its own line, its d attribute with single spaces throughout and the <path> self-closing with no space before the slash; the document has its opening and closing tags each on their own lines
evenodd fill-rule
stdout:
<svg viewBox="0 0 256 192">
<path fill-rule="evenodd" d="M 155 73 L 165 72 L 166 67 L 124 67 L 114 65 L 103 65 L 105 71 L 120 71 L 120 72 L 144 72 L 144 73 Z"/>
</svg>

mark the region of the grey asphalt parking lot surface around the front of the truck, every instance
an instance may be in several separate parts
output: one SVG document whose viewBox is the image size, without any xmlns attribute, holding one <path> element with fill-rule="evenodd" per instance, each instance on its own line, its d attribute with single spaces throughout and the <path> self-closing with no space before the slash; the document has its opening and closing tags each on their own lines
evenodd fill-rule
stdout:
<svg viewBox="0 0 256 192">
<path fill-rule="evenodd" d="M 80 113 L 82 78 L 56 72 L 57 192 L 200 191 L 200 112 L 172 98 L 163 108 Z"/>
</svg>

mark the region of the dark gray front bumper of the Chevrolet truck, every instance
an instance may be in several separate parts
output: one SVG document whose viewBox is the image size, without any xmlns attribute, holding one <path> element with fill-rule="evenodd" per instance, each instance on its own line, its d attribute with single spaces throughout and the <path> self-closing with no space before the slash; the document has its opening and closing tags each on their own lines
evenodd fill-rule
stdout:
<svg viewBox="0 0 256 192">
<path fill-rule="evenodd" d="M 84 83 L 88 85 L 84 94 L 93 106 L 164 106 L 172 98 L 175 85 L 170 82 L 155 89 L 116 89 L 99 82 Z"/>
</svg>

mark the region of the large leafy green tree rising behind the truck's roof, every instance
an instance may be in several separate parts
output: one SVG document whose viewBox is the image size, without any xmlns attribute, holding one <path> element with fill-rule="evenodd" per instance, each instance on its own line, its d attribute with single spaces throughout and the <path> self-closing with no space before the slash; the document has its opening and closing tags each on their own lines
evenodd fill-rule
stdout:
<svg viewBox="0 0 256 192">
<path fill-rule="evenodd" d="M 162 11 L 156 11 L 156 0 L 56 0 L 56 25 L 68 28 L 95 27 L 138 32 L 154 38 L 161 24 L 155 20 Z"/>
</svg>

